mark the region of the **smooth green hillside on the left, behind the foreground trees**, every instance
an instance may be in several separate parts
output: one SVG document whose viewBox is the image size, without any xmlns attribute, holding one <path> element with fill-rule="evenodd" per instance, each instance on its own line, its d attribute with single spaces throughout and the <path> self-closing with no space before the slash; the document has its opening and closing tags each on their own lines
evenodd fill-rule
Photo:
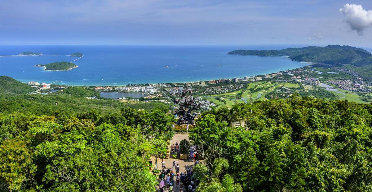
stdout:
<svg viewBox="0 0 372 192">
<path fill-rule="evenodd" d="M 0 77 L 0 114 L 27 112 L 37 115 L 52 114 L 54 111 L 65 111 L 77 114 L 87 110 L 96 110 L 102 113 L 119 113 L 124 107 L 151 110 L 161 108 L 167 110 L 168 105 L 160 102 L 124 103 L 116 100 L 86 99 L 88 96 L 98 96 L 99 92 L 84 87 L 69 87 L 62 91 L 48 95 L 25 95 L 35 91 L 34 88 L 19 82 L 11 77 Z M 20 94 L 20 95 L 16 95 Z"/>
</svg>

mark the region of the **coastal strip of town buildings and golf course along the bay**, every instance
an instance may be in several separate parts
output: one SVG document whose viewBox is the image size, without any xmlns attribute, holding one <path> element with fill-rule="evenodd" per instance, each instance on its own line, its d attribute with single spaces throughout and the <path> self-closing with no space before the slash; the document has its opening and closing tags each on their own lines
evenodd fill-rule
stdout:
<svg viewBox="0 0 372 192">
<path fill-rule="evenodd" d="M 36 91 L 29 94 L 59 94 L 64 88 L 71 87 L 57 84 L 58 81 L 30 81 L 28 85 L 35 87 Z M 174 105 L 173 100 L 185 88 L 191 87 L 194 97 L 198 98 L 199 110 L 203 111 L 241 102 L 289 98 L 292 94 L 330 99 L 350 95 L 354 100 L 359 98 L 360 102 L 365 102 L 369 101 L 371 85 L 369 80 L 364 80 L 358 72 L 349 69 L 310 65 L 247 77 L 164 84 L 85 86 L 85 89 L 97 92 L 96 95 L 86 97 L 92 100 L 115 99 L 120 102 L 161 102 Z"/>
</svg>

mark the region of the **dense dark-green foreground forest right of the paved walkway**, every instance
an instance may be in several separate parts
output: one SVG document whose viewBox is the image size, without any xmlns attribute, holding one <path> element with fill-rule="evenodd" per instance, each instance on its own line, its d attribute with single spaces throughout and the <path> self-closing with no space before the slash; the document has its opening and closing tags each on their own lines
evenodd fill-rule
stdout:
<svg viewBox="0 0 372 192">
<path fill-rule="evenodd" d="M 292 95 L 209 111 L 190 138 L 206 164 L 227 159 L 244 191 L 371 191 L 371 113 L 371 104 Z M 239 119 L 245 128 L 227 126 Z"/>
</svg>

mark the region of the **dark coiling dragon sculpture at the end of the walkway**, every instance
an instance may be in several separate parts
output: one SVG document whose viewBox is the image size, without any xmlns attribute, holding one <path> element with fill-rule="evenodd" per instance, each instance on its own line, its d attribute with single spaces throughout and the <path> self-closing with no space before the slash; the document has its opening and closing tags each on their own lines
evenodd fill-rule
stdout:
<svg viewBox="0 0 372 192">
<path fill-rule="evenodd" d="M 185 98 L 185 101 L 182 103 L 183 98 Z M 191 112 L 199 108 L 199 104 L 196 103 L 196 101 L 199 101 L 199 98 L 192 97 L 191 88 L 182 91 L 181 98 L 174 99 L 174 103 L 180 105 L 180 107 L 174 112 L 175 115 L 179 115 L 179 119 L 176 123 L 177 125 L 195 124 L 194 118 L 196 114 L 191 114 Z"/>
</svg>

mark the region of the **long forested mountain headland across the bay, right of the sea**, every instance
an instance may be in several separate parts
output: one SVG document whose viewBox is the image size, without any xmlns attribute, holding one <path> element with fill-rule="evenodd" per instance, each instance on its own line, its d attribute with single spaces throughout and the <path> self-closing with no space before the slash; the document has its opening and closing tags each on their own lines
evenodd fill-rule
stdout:
<svg viewBox="0 0 372 192">
<path fill-rule="evenodd" d="M 295 61 L 305 61 L 325 64 L 351 64 L 364 66 L 372 64 L 371 53 L 365 49 L 352 46 L 328 45 L 325 47 L 307 46 L 304 48 L 288 48 L 281 50 L 235 50 L 228 52 L 231 55 L 257 55 L 257 56 L 288 56 Z"/>
</svg>

